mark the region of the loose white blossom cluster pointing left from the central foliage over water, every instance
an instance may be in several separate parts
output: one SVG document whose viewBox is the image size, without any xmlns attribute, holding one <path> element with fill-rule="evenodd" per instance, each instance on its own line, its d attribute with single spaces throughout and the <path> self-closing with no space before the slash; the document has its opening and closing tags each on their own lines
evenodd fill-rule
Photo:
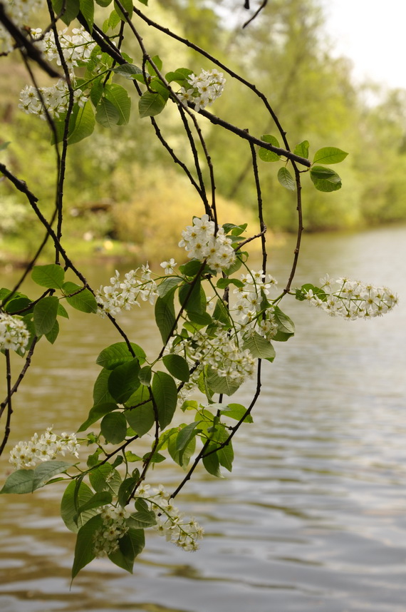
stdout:
<svg viewBox="0 0 406 612">
<path fill-rule="evenodd" d="M 120 272 L 115 270 L 115 276 L 110 278 L 110 285 L 100 287 L 95 292 L 99 305 L 98 314 L 104 317 L 107 314 L 118 315 L 121 310 L 131 310 L 134 305 L 140 305 L 138 298 L 144 302 L 154 304 L 157 297 L 157 283 L 152 280 L 152 272 L 148 264 L 142 265 L 140 274 L 137 270 L 130 270 L 120 279 Z"/>
</svg>

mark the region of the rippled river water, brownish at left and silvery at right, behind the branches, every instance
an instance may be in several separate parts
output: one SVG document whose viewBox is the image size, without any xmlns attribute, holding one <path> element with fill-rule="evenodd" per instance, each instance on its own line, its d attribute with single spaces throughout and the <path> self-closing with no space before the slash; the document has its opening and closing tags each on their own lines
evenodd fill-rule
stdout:
<svg viewBox="0 0 406 612">
<path fill-rule="evenodd" d="M 292 248 L 272 251 L 269 272 L 281 282 Z M 70 588 L 75 538 L 57 491 L 1 496 L 0 611 L 405 612 L 405 261 L 405 227 L 306 237 L 297 284 L 348 275 L 388 285 L 400 305 L 347 322 L 286 297 L 296 337 L 276 343 L 265 364 L 231 475 L 199 470 L 177 499 L 206 531 L 197 553 L 151 533 L 132 576 L 98 559 Z M 87 272 L 98 286 L 113 270 Z M 41 342 L 16 396 L 10 448 L 49 424 L 73 431 L 87 415 L 95 355 L 120 339 L 71 312 L 56 345 Z M 121 322 L 140 345 L 157 342 L 145 310 Z M 248 384 L 235 401 L 251 392 Z M 161 466 L 171 489 L 183 472 Z M 8 469 L 4 457 L 2 481 Z"/>
</svg>

